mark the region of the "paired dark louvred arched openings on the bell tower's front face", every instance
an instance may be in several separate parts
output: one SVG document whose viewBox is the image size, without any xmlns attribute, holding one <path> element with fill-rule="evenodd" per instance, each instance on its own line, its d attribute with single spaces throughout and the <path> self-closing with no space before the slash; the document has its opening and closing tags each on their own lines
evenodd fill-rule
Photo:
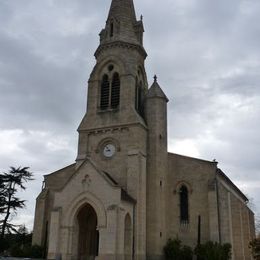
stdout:
<svg viewBox="0 0 260 260">
<path fill-rule="evenodd" d="M 117 72 L 112 80 L 105 74 L 101 82 L 100 109 L 116 109 L 120 104 L 120 77 Z"/>
</svg>

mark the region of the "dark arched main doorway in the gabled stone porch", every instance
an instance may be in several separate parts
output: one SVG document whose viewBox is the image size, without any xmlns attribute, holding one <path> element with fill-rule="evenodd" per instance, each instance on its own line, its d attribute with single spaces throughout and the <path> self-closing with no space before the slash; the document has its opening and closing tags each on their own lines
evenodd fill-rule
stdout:
<svg viewBox="0 0 260 260">
<path fill-rule="evenodd" d="M 84 205 L 78 215 L 78 260 L 94 260 L 98 255 L 99 233 L 97 214 L 89 204 Z"/>
</svg>

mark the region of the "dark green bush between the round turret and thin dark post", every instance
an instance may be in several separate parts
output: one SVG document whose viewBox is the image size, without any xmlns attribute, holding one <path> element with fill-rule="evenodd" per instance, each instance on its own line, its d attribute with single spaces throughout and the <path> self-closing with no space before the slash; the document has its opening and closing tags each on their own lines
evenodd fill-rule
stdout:
<svg viewBox="0 0 260 260">
<path fill-rule="evenodd" d="M 164 247 L 166 260 L 192 260 L 192 249 L 188 246 L 182 246 L 179 239 L 169 239 Z"/>
</svg>

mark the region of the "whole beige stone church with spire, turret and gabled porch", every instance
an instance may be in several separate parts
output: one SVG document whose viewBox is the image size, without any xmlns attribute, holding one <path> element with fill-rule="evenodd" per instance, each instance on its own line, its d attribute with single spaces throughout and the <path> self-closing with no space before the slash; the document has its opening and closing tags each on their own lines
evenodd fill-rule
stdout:
<svg viewBox="0 0 260 260">
<path fill-rule="evenodd" d="M 44 176 L 33 244 L 47 259 L 161 260 L 178 238 L 230 243 L 232 259 L 250 260 L 247 197 L 216 161 L 167 150 L 169 100 L 156 76 L 148 86 L 143 33 L 133 0 L 112 0 L 76 161 Z"/>
</svg>

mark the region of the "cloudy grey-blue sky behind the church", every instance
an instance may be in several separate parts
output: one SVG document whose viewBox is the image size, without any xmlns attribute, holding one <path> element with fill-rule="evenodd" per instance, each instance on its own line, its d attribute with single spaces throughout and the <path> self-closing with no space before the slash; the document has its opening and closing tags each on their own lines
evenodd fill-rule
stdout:
<svg viewBox="0 0 260 260">
<path fill-rule="evenodd" d="M 0 1 L 0 171 L 29 166 L 15 223 L 32 229 L 43 175 L 75 161 L 110 0 Z M 260 1 L 135 0 L 146 71 L 168 103 L 169 151 L 212 161 L 260 212 Z"/>
</svg>

